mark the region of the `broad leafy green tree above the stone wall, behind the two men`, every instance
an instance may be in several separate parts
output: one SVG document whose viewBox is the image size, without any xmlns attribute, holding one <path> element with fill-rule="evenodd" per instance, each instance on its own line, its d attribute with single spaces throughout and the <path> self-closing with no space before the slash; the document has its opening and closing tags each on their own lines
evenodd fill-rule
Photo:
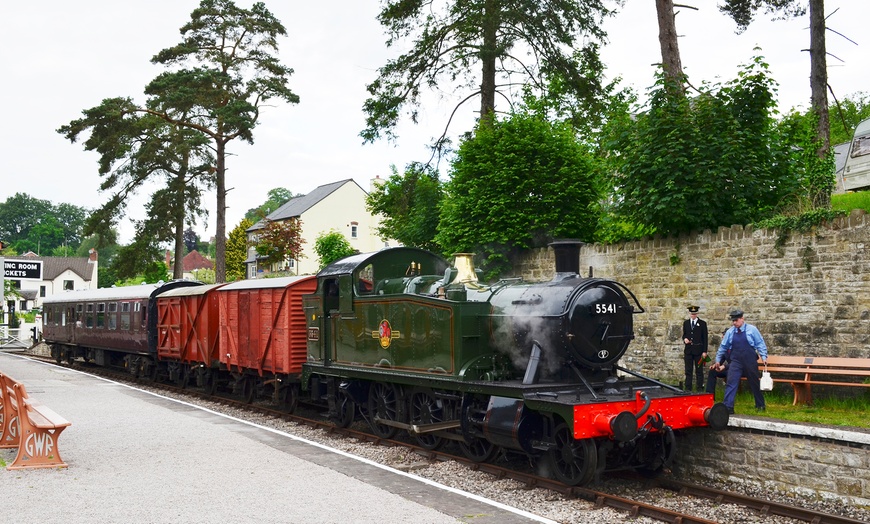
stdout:
<svg viewBox="0 0 870 524">
<path fill-rule="evenodd" d="M 659 76 L 649 107 L 612 122 L 620 215 L 662 234 L 746 224 L 798 190 L 761 58 L 721 88 L 675 96 Z"/>
</svg>

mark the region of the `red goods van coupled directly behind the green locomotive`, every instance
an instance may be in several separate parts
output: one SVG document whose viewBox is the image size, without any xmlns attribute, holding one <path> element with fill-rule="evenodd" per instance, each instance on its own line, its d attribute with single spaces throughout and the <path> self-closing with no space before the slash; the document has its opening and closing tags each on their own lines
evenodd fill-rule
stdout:
<svg viewBox="0 0 870 524">
<path fill-rule="evenodd" d="M 246 399 L 271 394 L 295 406 L 308 356 L 302 295 L 316 288 L 316 277 L 303 276 L 243 280 L 215 291 L 221 368 Z"/>
</svg>

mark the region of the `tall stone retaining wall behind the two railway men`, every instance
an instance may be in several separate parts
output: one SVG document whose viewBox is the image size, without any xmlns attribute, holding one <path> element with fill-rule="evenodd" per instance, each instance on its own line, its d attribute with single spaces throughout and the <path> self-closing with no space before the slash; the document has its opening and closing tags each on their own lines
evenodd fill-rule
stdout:
<svg viewBox="0 0 870 524">
<path fill-rule="evenodd" d="M 861 210 L 809 233 L 722 227 L 679 237 L 586 245 L 581 272 L 626 285 L 645 313 L 622 364 L 653 377 L 683 378 L 686 307 L 701 306 L 710 351 L 741 308 L 771 354 L 870 357 L 870 217 Z M 781 244 L 781 245 L 778 245 Z M 552 249 L 515 265 L 528 280 L 549 280 Z"/>
</svg>

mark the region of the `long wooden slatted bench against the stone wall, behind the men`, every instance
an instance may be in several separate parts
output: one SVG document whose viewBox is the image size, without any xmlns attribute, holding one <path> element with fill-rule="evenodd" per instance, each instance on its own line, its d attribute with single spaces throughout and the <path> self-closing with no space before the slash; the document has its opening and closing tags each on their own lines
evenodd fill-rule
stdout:
<svg viewBox="0 0 870 524">
<path fill-rule="evenodd" d="M 758 371 L 764 364 L 758 361 Z M 812 386 L 870 387 L 870 358 L 791 357 L 770 355 L 767 371 L 774 382 L 788 382 L 794 388 L 794 405 L 812 404 Z M 853 380 L 844 380 L 852 378 Z"/>
</svg>

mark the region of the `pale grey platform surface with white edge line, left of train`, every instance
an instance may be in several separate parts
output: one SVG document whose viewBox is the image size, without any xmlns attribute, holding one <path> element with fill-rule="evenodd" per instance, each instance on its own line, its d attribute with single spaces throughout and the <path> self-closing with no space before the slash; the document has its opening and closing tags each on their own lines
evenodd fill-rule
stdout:
<svg viewBox="0 0 870 524">
<path fill-rule="evenodd" d="M 552 522 L 272 428 L 0 351 L 72 422 L 64 469 L 5 469 L 5 523 Z M 3 462 L 5 461 L 5 464 Z"/>
</svg>

